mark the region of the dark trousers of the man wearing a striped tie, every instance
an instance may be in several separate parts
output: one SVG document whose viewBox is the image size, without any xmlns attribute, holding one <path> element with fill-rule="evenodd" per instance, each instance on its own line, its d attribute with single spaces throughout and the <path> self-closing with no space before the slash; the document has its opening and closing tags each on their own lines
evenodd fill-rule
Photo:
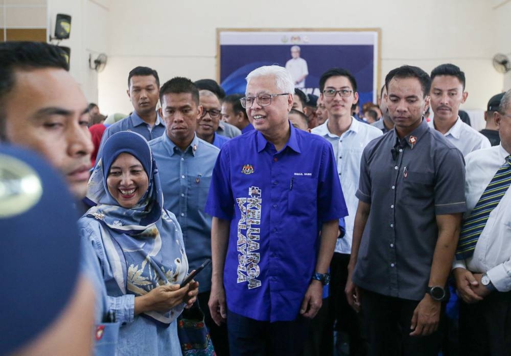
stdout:
<svg viewBox="0 0 511 356">
<path fill-rule="evenodd" d="M 511 355 L 511 292 L 494 291 L 474 304 L 460 300 L 459 345 L 463 356 Z"/>
</svg>

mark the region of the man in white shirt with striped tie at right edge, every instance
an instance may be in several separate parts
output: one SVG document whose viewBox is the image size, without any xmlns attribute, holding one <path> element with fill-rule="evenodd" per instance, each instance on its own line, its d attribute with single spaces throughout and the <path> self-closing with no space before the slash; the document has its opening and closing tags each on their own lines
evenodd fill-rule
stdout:
<svg viewBox="0 0 511 356">
<path fill-rule="evenodd" d="M 507 355 L 511 350 L 511 90 L 494 118 L 500 145 L 466 157 L 470 212 L 463 221 L 453 263 L 462 299 L 460 354 L 468 356 Z M 484 210 L 490 211 L 484 216 Z M 479 226 L 472 227 L 471 222 Z"/>
</svg>

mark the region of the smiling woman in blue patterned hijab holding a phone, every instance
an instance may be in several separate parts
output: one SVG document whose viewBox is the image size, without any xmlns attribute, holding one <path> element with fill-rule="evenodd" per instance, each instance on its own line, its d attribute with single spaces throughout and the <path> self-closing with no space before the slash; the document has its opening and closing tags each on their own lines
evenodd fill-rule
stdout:
<svg viewBox="0 0 511 356">
<path fill-rule="evenodd" d="M 123 131 L 106 141 L 87 199 L 97 205 L 79 220 L 80 233 L 100 260 L 107 313 L 121 323 L 118 355 L 180 355 L 175 320 L 198 283 L 179 288 L 188 272 L 181 228 L 162 208 L 144 137 Z"/>
</svg>

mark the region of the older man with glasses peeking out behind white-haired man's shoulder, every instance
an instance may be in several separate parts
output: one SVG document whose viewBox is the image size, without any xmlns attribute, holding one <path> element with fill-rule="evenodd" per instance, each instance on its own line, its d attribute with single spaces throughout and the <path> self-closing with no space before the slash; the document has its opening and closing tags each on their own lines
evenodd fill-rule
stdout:
<svg viewBox="0 0 511 356">
<path fill-rule="evenodd" d="M 221 148 L 229 138 L 216 133 L 218 125 L 220 124 L 220 117 L 222 116 L 220 100 L 218 100 L 214 92 L 200 90 L 199 104 L 202 106 L 202 114 L 197 119 L 195 132 L 199 138 L 207 143 Z"/>
</svg>

